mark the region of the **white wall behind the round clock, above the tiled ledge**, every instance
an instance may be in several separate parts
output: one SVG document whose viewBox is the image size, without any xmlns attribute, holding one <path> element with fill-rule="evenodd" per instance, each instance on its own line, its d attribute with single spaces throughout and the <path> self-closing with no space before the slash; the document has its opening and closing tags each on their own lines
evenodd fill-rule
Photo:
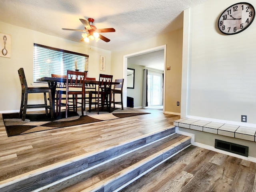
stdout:
<svg viewBox="0 0 256 192">
<path fill-rule="evenodd" d="M 247 2 L 256 8 L 255 1 Z M 209 0 L 184 11 L 183 117 L 241 122 L 247 115 L 248 124 L 256 124 L 256 20 L 235 35 L 217 26 L 220 14 L 235 3 Z"/>
</svg>

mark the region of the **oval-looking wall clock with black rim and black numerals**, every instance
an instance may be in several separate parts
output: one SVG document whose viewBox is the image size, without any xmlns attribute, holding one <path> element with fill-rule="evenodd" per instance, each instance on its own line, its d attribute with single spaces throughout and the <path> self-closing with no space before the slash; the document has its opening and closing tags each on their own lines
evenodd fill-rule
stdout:
<svg viewBox="0 0 256 192">
<path fill-rule="evenodd" d="M 236 3 L 220 15 L 218 27 L 224 34 L 237 34 L 248 28 L 254 17 L 255 10 L 250 3 Z"/>
</svg>

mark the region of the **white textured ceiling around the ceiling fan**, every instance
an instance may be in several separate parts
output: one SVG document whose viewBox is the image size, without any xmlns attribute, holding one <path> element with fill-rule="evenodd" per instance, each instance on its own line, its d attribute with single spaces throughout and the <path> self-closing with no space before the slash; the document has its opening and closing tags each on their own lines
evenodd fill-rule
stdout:
<svg viewBox="0 0 256 192">
<path fill-rule="evenodd" d="M 91 46 L 114 51 L 182 28 L 182 11 L 205 1 L 0 0 L 0 21 L 79 42 L 81 32 L 62 28 L 83 30 L 79 19 L 94 18 L 97 28 L 115 28 L 116 32 L 101 33 L 110 42 L 94 41 Z"/>
</svg>

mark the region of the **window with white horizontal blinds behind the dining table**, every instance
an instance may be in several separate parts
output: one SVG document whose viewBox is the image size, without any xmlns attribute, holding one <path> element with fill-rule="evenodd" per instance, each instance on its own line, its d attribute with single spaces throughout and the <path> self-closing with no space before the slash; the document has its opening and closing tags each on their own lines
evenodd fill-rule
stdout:
<svg viewBox="0 0 256 192">
<path fill-rule="evenodd" d="M 67 70 L 88 71 L 88 58 L 86 54 L 34 43 L 33 81 L 52 74 L 65 75 Z"/>
</svg>

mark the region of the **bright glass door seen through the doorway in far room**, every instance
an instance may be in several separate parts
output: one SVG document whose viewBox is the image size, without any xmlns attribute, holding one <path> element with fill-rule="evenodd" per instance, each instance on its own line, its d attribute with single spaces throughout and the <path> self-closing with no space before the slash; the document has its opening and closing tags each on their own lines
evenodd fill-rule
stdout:
<svg viewBox="0 0 256 192">
<path fill-rule="evenodd" d="M 163 74 L 148 71 L 148 106 L 163 105 Z"/>
</svg>

